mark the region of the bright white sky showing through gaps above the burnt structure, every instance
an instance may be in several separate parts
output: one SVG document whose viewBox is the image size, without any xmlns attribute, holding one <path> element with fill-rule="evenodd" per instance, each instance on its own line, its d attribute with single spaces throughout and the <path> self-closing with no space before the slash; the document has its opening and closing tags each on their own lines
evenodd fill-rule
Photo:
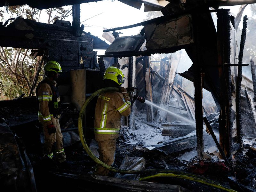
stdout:
<svg viewBox="0 0 256 192">
<path fill-rule="evenodd" d="M 68 7 L 70 6 L 65 6 L 66 9 L 68 9 Z M 232 12 L 235 16 L 239 7 L 240 5 L 222 8 L 229 8 L 230 12 Z M 105 40 L 102 37 L 104 27 L 116 28 L 136 24 L 145 20 L 147 18 L 147 13 L 148 12 L 144 12 L 144 4 L 142 4 L 141 9 L 139 10 L 132 6 L 121 3 L 120 1 L 104 0 L 81 4 L 80 20 L 81 24 L 85 26 L 85 32 L 90 32 L 92 35 L 98 36 L 102 40 Z M 245 8 L 244 14 L 247 14 L 247 16 L 251 15 L 249 6 Z M 47 22 L 46 18 L 48 18 L 47 15 L 42 13 L 40 22 Z M 72 22 L 72 16 L 69 16 L 65 20 Z M 242 22 L 240 24 L 242 25 Z M 120 36 L 131 36 L 137 35 L 141 29 L 142 26 L 118 31 L 124 33 L 120 34 Z"/>
</svg>

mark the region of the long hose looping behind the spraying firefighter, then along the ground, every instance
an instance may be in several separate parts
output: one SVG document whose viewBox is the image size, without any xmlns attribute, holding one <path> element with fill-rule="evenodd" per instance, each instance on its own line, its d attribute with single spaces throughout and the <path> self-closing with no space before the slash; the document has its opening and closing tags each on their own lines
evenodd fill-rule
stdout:
<svg viewBox="0 0 256 192">
<path fill-rule="evenodd" d="M 187 177 L 187 178 L 195 178 L 196 180 L 201 180 L 201 183 L 204 183 L 206 185 L 211 185 L 211 186 L 221 186 L 219 183 L 200 177 L 198 175 L 192 174 L 192 173 L 187 173 L 187 172 L 181 172 L 181 171 L 173 171 L 173 170 L 169 170 L 169 169 L 146 169 L 146 170 L 123 170 L 123 169 L 118 169 L 115 167 L 111 167 L 105 163 L 103 163 L 102 161 L 100 161 L 100 159 L 98 159 L 93 153 L 92 151 L 89 149 L 88 145 L 86 144 L 85 138 L 84 138 L 84 131 L 83 131 L 83 117 L 84 117 L 84 113 L 85 113 L 85 109 L 86 106 L 88 105 L 88 103 L 98 94 L 100 94 L 100 92 L 106 92 L 106 91 L 119 91 L 118 88 L 116 87 L 106 87 L 106 88 L 102 88 L 94 93 L 92 93 L 92 95 L 90 97 L 88 97 L 88 99 L 85 100 L 80 112 L 79 112 L 79 116 L 78 116 L 78 132 L 79 132 L 79 137 L 81 140 L 81 143 L 84 147 L 84 150 L 86 151 L 86 153 L 92 158 L 92 160 L 99 164 L 100 166 L 104 167 L 105 169 L 108 169 L 112 172 L 118 172 L 118 173 L 122 173 L 122 174 L 139 174 L 139 173 L 158 173 L 158 174 L 173 174 L 173 175 L 182 175 L 183 177 Z M 158 175 L 157 174 L 157 175 Z M 148 176 L 151 177 L 151 176 Z M 146 177 L 145 177 L 146 178 Z M 177 177 L 178 178 L 178 177 Z M 199 182 L 199 181 L 198 181 Z M 225 188 L 225 187 L 223 187 Z M 228 188 L 226 188 L 228 189 Z M 230 190 L 230 189 L 228 189 Z M 234 191 L 234 190 L 230 190 L 230 191 Z"/>
</svg>

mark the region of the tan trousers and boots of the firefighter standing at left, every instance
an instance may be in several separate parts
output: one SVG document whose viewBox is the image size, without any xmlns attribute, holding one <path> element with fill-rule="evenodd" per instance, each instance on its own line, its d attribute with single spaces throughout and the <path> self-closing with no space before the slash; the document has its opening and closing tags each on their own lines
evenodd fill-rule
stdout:
<svg viewBox="0 0 256 192">
<path fill-rule="evenodd" d="M 56 133 L 52 133 L 51 135 L 49 135 L 48 133 L 47 124 L 44 122 L 42 123 L 43 130 L 44 130 L 44 154 L 52 159 L 52 156 L 53 156 L 52 146 L 53 146 L 53 143 L 56 142 L 54 155 L 57 161 L 61 163 L 66 160 L 66 155 L 63 148 L 63 142 L 62 142 L 63 136 L 60 130 L 59 119 L 52 118 L 52 123 L 56 128 Z"/>
</svg>

